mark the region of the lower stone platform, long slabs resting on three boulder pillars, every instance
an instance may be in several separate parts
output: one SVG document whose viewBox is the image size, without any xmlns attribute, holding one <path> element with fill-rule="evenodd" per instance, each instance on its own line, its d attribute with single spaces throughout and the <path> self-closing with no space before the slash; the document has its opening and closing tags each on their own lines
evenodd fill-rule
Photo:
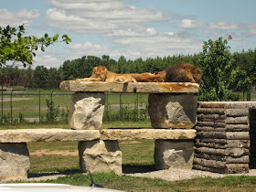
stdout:
<svg viewBox="0 0 256 192">
<path fill-rule="evenodd" d="M 27 178 L 29 142 L 78 141 L 83 172 L 122 174 L 119 140 L 155 139 L 155 167 L 192 168 L 196 130 L 184 129 L 22 129 L 0 131 L 0 180 Z"/>
</svg>

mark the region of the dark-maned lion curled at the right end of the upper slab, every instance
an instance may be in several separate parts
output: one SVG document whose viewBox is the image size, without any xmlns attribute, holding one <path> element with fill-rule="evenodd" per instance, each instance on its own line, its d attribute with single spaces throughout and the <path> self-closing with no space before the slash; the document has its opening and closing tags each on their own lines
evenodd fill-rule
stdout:
<svg viewBox="0 0 256 192">
<path fill-rule="evenodd" d="M 178 63 L 162 71 L 165 82 L 194 82 L 200 83 L 203 72 L 190 63 Z"/>
</svg>

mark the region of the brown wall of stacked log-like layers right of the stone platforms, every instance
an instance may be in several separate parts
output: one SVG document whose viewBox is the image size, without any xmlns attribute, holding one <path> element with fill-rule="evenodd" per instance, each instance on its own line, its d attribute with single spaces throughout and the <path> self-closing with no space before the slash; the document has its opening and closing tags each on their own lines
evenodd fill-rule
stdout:
<svg viewBox="0 0 256 192">
<path fill-rule="evenodd" d="M 199 102 L 193 167 L 222 174 L 248 173 L 249 111 L 256 102 Z"/>
</svg>

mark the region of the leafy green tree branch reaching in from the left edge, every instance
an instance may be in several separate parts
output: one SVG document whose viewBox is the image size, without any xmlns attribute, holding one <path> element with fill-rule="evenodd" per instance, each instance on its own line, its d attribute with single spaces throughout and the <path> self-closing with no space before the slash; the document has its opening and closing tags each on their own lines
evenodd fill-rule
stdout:
<svg viewBox="0 0 256 192">
<path fill-rule="evenodd" d="M 58 42 L 59 34 L 54 37 L 48 37 L 46 33 L 44 37 L 23 37 L 25 34 L 24 25 L 19 27 L 5 28 L 0 27 L 0 67 L 8 65 L 7 62 L 21 62 L 24 67 L 31 65 L 33 57 L 36 57 L 35 51 L 38 47 L 45 51 L 45 47 Z M 67 35 L 62 36 L 61 42 L 69 44 L 71 39 Z"/>
</svg>

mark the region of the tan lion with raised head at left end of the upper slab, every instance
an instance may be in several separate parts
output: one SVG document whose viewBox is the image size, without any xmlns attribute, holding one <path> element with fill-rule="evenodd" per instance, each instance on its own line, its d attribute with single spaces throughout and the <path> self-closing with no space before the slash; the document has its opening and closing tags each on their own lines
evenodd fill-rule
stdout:
<svg viewBox="0 0 256 192">
<path fill-rule="evenodd" d="M 109 71 L 106 67 L 98 66 L 92 71 L 90 78 L 77 79 L 80 81 L 105 81 L 105 82 L 137 82 L 131 74 L 117 74 Z"/>
</svg>

